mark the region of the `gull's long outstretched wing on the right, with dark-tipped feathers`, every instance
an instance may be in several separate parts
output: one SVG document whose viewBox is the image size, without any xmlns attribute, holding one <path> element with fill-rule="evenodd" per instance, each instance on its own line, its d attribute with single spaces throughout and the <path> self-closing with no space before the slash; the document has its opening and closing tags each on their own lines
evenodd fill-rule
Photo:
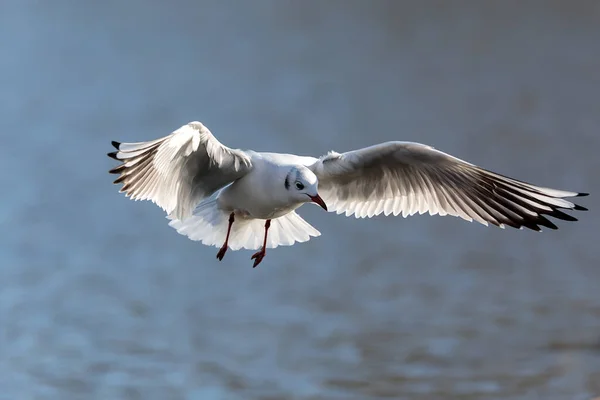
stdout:
<svg viewBox="0 0 600 400">
<path fill-rule="evenodd" d="M 586 193 L 534 186 L 419 143 L 330 152 L 309 168 L 329 210 L 357 218 L 429 212 L 539 231 L 539 225 L 557 228 L 544 215 L 576 221 L 560 209 L 585 210 L 564 197 Z"/>
</svg>

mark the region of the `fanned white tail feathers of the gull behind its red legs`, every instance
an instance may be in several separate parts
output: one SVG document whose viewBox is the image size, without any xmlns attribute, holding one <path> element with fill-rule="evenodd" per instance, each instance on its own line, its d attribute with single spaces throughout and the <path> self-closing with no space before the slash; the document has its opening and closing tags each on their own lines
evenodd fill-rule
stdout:
<svg viewBox="0 0 600 400">
<path fill-rule="evenodd" d="M 200 203 L 192 216 L 183 221 L 173 219 L 169 225 L 191 240 L 201 241 L 207 246 L 221 247 L 227 235 L 230 213 L 218 207 L 216 197 L 213 195 Z M 231 250 L 259 249 L 262 247 L 264 233 L 265 220 L 236 215 L 229 235 L 229 248 Z M 290 246 L 320 235 L 318 230 L 292 211 L 283 217 L 271 220 L 267 248 Z"/>
</svg>

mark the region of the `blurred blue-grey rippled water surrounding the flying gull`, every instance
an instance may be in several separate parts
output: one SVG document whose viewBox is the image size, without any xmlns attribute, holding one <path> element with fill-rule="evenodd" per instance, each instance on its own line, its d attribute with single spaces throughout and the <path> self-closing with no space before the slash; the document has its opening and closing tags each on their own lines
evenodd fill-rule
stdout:
<svg viewBox="0 0 600 400">
<path fill-rule="evenodd" d="M 600 2 L 0 4 L 0 399 L 600 395 Z M 558 231 L 355 220 L 215 259 L 110 141 L 433 145 L 589 191 Z"/>
</svg>

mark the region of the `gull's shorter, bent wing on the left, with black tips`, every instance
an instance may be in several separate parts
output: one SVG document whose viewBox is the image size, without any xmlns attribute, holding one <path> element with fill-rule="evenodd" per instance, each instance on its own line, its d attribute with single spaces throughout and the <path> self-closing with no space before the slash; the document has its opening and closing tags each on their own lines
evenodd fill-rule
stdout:
<svg viewBox="0 0 600 400">
<path fill-rule="evenodd" d="M 161 139 L 112 142 L 108 155 L 122 164 L 120 192 L 134 200 L 151 200 L 171 217 L 183 220 L 204 198 L 252 169 L 250 156 L 221 144 L 200 122 L 190 122 Z"/>
</svg>

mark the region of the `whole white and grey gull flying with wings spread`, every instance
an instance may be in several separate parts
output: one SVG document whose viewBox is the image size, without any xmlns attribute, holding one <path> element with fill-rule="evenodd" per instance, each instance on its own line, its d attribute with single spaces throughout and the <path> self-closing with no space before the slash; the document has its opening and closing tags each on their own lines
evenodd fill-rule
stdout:
<svg viewBox="0 0 600 400">
<path fill-rule="evenodd" d="M 557 229 L 545 216 L 577 221 L 565 200 L 587 196 L 534 186 L 414 142 L 391 141 L 319 157 L 229 148 L 198 121 L 160 139 L 112 142 L 120 161 L 109 172 L 133 200 L 161 207 L 169 225 L 191 240 L 258 250 L 302 243 L 321 233 L 296 209 L 311 203 L 356 218 L 381 213 L 451 215 L 504 228 Z"/>
</svg>

